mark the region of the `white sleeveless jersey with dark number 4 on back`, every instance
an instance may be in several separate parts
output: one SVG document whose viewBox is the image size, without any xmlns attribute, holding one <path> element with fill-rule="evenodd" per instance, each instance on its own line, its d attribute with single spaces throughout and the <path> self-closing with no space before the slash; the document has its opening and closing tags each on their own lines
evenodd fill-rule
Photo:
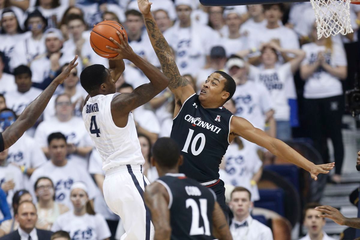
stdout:
<svg viewBox="0 0 360 240">
<path fill-rule="evenodd" d="M 86 131 L 103 159 L 103 171 L 126 164 L 144 164 L 134 117 L 129 113 L 125 127 L 117 127 L 111 115 L 111 101 L 120 93 L 96 95 L 82 110 Z"/>
</svg>

